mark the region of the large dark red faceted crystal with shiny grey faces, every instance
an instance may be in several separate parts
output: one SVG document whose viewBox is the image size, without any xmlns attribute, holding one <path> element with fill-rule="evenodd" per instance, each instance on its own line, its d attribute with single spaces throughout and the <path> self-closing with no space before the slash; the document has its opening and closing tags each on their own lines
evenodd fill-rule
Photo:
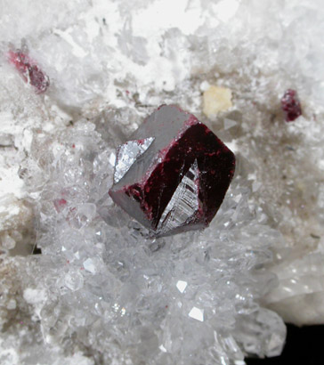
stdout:
<svg viewBox="0 0 324 365">
<path fill-rule="evenodd" d="M 110 197 L 157 236 L 206 227 L 235 157 L 190 113 L 162 105 L 117 149 Z"/>
</svg>

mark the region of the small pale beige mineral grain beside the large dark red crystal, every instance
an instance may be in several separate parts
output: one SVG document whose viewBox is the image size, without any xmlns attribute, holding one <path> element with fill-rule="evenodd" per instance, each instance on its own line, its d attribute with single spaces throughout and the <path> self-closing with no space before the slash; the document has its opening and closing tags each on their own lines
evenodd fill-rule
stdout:
<svg viewBox="0 0 324 365">
<path fill-rule="evenodd" d="M 203 94 L 203 111 L 209 118 L 219 111 L 231 108 L 231 90 L 226 87 L 211 85 Z"/>
</svg>

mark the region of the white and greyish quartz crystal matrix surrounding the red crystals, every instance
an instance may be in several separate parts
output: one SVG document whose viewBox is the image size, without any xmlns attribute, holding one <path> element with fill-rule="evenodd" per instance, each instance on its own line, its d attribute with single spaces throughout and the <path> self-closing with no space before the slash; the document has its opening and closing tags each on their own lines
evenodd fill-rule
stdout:
<svg viewBox="0 0 324 365">
<path fill-rule="evenodd" d="M 243 364 L 280 353 L 279 315 L 324 323 L 323 17 L 320 0 L 0 1 L 1 364 Z M 21 47 L 45 94 L 6 61 Z M 231 90 L 215 118 L 208 85 Z M 107 192 L 162 103 L 238 166 L 206 231 L 154 240 Z"/>
</svg>

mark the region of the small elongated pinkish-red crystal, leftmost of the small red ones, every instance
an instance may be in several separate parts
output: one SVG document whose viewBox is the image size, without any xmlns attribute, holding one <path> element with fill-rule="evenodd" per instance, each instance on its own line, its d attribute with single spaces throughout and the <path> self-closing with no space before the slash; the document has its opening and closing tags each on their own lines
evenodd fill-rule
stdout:
<svg viewBox="0 0 324 365">
<path fill-rule="evenodd" d="M 8 60 L 18 70 L 24 81 L 36 88 L 37 93 L 45 93 L 50 85 L 49 77 L 39 69 L 36 62 L 32 61 L 28 54 L 22 53 L 20 50 L 9 51 Z"/>
</svg>

